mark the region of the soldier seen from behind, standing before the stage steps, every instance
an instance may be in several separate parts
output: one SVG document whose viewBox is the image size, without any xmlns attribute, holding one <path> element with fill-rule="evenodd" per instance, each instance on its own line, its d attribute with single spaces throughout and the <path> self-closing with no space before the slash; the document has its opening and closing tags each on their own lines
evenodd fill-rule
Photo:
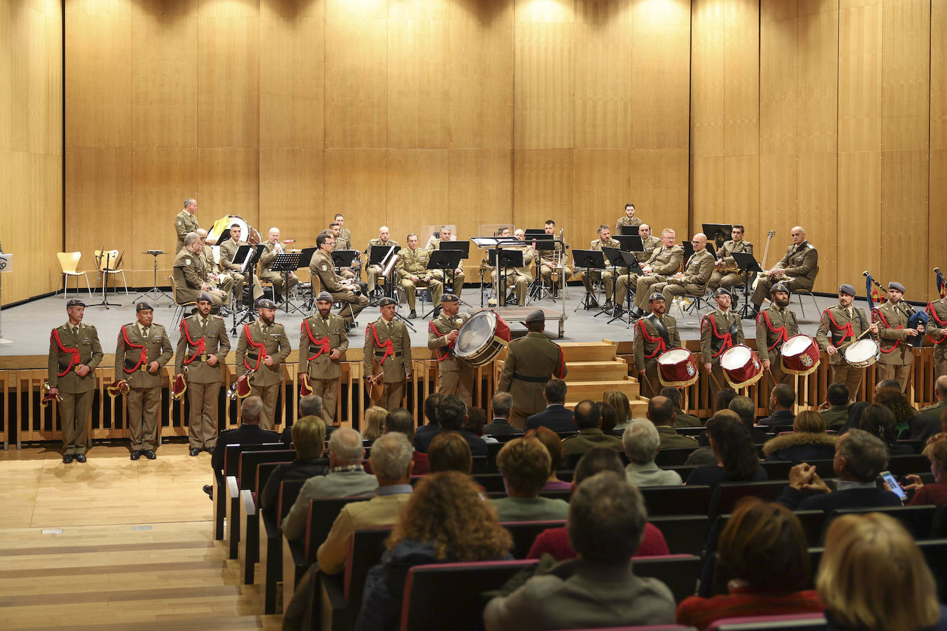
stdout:
<svg viewBox="0 0 947 631">
<path fill-rule="evenodd" d="M 530 414 L 545 410 L 546 381 L 553 377 L 564 379 L 569 372 L 563 349 L 545 337 L 545 313 L 536 309 L 527 315 L 526 324 L 526 336 L 509 342 L 507 359 L 496 384 L 496 392 L 513 396 L 509 424 L 518 429 L 526 427 Z"/>
</svg>

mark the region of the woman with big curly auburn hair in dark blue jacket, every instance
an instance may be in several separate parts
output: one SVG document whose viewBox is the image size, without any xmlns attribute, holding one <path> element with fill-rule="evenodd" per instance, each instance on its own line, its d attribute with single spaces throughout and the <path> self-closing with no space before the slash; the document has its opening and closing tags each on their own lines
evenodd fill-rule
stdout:
<svg viewBox="0 0 947 631">
<path fill-rule="evenodd" d="M 512 559 L 512 539 L 470 476 L 429 474 L 391 531 L 382 565 L 368 570 L 357 631 L 397 629 L 408 570 L 430 563 Z"/>
</svg>

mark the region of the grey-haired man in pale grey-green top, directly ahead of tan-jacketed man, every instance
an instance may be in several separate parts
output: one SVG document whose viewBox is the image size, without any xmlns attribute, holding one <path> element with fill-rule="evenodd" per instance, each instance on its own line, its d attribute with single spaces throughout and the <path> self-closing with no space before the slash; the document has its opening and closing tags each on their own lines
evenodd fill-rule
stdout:
<svg viewBox="0 0 947 631">
<path fill-rule="evenodd" d="M 298 540 L 306 534 L 309 502 L 312 500 L 374 493 L 378 481 L 375 476 L 366 473 L 362 466 L 363 460 L 365 448 L 362 447 L 362 435 L 359 432 L 349 428 L 333 431 L 329 438 L 329 473 L 310 478 L 302 485 L 293 508 L 283 519 L 283 535 L 287 539 Z"/>
</svg>

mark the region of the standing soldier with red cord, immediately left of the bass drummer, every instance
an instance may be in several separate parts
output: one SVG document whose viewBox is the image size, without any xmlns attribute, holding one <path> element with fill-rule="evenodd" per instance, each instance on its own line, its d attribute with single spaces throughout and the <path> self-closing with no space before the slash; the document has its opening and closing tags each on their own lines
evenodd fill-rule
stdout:
<svg viewBox="0 0 947 631">
<path fill-rule="evenodd" d="M 362 363 L 366 381 L 382 375 L 384 388 L 375 405 L 387 411 L 402 406 L 404 382 L 411 377 L 411 336 L 408 327 L 395 320 L 395 305 L 391 298 L 382 298 L 378 305 L 382 317 L 365 328 L 365 346 Z"/>
</svg>

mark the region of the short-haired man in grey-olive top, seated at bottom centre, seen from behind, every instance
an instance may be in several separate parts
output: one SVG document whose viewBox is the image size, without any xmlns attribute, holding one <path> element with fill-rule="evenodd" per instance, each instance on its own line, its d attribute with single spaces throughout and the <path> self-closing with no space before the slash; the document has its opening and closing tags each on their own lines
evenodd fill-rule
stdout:
<svg viewBox="0 0 947 631">
<path fill-rule="evenodd" d="M 641 493 L 616 472 L 582 481 L 572 496 L 568 521 L 578 558 L 534 575 L 508 596 L 493 598 L 483 615 L 487 630 L 674 622 L 668 586 L 632 570 L 631 557 L 647 519 Z"/>
</svg>

